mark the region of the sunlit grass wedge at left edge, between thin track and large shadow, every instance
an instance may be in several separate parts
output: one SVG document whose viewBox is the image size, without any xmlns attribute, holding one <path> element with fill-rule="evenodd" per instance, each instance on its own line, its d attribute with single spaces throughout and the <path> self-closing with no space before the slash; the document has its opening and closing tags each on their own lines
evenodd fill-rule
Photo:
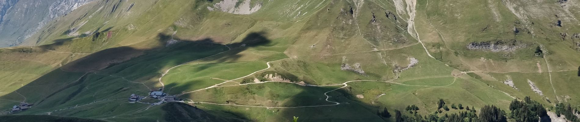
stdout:
<svg viewBox="0 0 580 122">
<path fill-rule="evenodd" d="M 8 94 L 85 54 L 63 54 L 31 47 L 0 49 L 0 95 Z"/>
</svg>

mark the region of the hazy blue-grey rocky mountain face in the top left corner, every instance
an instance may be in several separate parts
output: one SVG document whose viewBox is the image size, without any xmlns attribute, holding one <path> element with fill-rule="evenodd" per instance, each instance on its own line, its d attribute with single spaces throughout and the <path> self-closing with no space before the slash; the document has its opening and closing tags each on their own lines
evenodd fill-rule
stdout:
<svg viewBox="0 0 580 122">
<path fill-rule="evenodd" d="M 0 47 L 17 46 L 59 16 L 93 0 L 0 0 Z"/>
</svg>

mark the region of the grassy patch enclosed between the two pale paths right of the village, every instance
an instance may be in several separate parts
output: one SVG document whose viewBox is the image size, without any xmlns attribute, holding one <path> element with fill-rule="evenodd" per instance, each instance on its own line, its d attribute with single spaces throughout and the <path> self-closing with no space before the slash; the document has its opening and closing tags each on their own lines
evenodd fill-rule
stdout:
<svg viewBox="0 0 580 122">
<path fill-rule="evenodd" d="M 325 92 L 341 86 L 307 87 L 293 83 L 260 83 L 209 88 L 186 94 L 193 101 L 235 105 L 294 107 L 330 105 Z"/>
</svg>

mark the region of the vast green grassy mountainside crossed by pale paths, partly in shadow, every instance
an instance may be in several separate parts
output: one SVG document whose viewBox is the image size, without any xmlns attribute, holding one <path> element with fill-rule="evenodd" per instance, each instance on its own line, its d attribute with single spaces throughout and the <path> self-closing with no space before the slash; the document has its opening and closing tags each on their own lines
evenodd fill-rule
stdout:
<svg viewBox="0 0 580 122">
<path fill-rule="evenodd" d="M 34 107 L 16 114 L 107 121 L 391 121 L 377 111 L 430 114 L 439 99 L 507 109 L 526 96 L 577 107 L 575 10 L 574 1 L 93 1 L 29 40 L 38 46 L 1 49 L 0 107 L 26 101 Z M 127 102 L 158 88 L 196 108 Z"/>
</svg>

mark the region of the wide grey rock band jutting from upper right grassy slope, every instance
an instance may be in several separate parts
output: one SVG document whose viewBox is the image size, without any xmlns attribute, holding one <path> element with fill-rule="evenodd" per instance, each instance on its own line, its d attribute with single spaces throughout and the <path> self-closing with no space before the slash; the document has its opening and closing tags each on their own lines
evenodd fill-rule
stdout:
<svg viewBox="0 0 580 122">
<path fill-rule="evenodd" d="M 511 40 L 491 40 L 487 42 L 471 42 L 467 44 L 467 49 L 469 50 L 481 50 L 481 51 L 515 51 L 523 47 L 527 47 L 525 43 L 511 39 Z"/>
</svg>

